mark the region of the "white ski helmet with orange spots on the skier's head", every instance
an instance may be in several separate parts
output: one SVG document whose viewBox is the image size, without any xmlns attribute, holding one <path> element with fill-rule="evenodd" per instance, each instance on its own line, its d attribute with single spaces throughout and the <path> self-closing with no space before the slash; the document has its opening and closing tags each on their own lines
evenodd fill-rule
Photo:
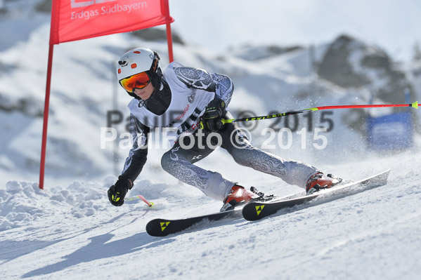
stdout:
<svg viewBox="0 0 421 280">
<path fill-rule="evenodd" d="M 150 81 L 155 88 L 160 85 L 162 78 L 160 56 L 149 48 L 134 48 L 124 53 L 117 61 L 118 81 L 141 72 L 148 73 Z M 129 91 L 127 93 L 136 97 L 134 93 L 130 93 Z"/>
</svg>

